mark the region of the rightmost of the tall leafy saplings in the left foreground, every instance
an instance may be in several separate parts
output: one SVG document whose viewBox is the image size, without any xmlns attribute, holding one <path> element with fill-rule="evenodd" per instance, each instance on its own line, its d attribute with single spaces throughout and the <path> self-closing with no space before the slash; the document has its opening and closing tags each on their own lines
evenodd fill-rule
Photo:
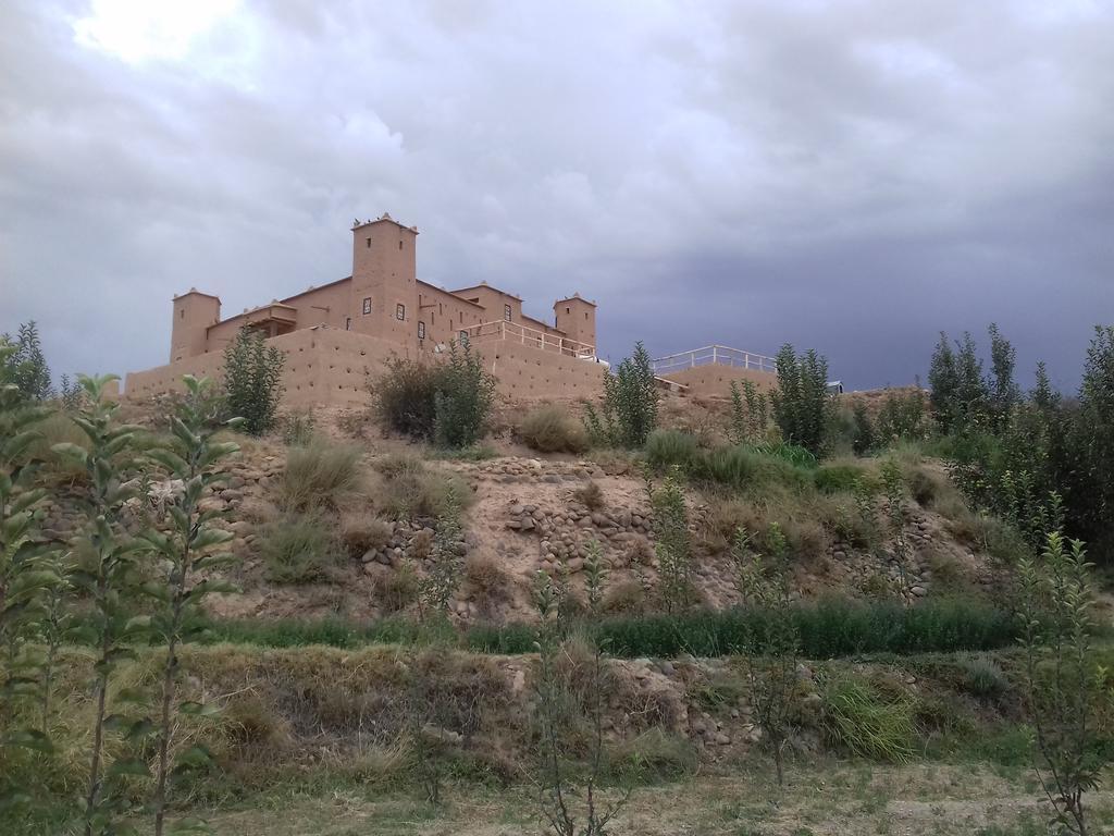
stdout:
<svg viewBox="0 0 1114 836">
<path fill-rule="evenodd" d="M 211 713 L 213 710 L 209 706 L 192 701 L 175 706 L 180 677 L 178 647 L 195 638 L 199 631 L 197 616 L 202 613 L 201 604 L 205 595 L 234 591 L 227 583 L 201 579 L 204 573 L 227 565 L 233 560 L 232 554 L 218 551 L 233 538 L 233 534 L 213 525 L 223 516 L 223 512 L 206 507 L 204 499 L 214 488 L 227 482 L 228 473 L 221 468 L 221 461 L 236 453 L 240 446 L 232 441 L 221 443 L 215 438 L 224 425 L 218 421 L 221 402 L 214 393 L 212 381 L 186 375 L 183 382 L 186 397 L 170 418 L 174 440 L 166 447 L 148 453 L 150 458 L 166 468 L 170 484 L 180 483 L 177 502 L 166 506 L 168 531 L 148 531 L 144 534 L 165 571 L 157 585 L 147 587 L 162 604 L 152 620 L 152 629 L 166 644 L 157 731 L 158 771 L 153 797 L 156 836 L 163 835 L 166 820 L 175 713 Z M 226 424 L 237 422 L 238 419 L 233 419 Z M 196 762 L 203 760 L 207 752 L 195 748 L 187 755 L 190 762 Z M 198 829 L 196 820 L 190 819 L 187 824 L 195 830 Z"/>
</svg>

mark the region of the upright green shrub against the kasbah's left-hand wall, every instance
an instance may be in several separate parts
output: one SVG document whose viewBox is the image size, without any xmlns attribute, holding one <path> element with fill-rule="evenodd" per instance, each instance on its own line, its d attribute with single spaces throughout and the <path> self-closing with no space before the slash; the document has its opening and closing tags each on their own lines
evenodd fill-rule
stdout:
<svg viewBox="0 0 1114 836">
<path fill-rule="evenodd" d="M 274 425 L 282 397 L 284 352 L 267 347 L 263 334 L 244 325 L 224 349 L 224 393 L 229 418 L 243 418 L 241 429 L 262 436 Z"/>
</svg>

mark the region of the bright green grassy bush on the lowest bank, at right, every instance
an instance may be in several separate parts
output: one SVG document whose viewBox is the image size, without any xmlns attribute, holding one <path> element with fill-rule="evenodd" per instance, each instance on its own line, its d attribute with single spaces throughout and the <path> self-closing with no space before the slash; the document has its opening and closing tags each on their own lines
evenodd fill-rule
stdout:
<svg viewBox="0 0 1114 836">
<path fill-rule="evenodd" d="M 824 683 L 824 728 L 829 737 L 864 758 L 906 764 L 913 756 L 913 702 L 844 674 Z"/>
</svg>

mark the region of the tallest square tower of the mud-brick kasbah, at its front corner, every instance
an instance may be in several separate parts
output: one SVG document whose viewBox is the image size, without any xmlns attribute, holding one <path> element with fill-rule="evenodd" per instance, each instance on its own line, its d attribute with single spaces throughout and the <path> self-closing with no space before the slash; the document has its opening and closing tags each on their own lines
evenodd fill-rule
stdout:
<svg viewBox="0 0 1114 836">
<path fill-rule="evenodd" d="M 390 215 L 352 227 L 351 330 L 418 341 L 418 229 Z"/>
</svg>

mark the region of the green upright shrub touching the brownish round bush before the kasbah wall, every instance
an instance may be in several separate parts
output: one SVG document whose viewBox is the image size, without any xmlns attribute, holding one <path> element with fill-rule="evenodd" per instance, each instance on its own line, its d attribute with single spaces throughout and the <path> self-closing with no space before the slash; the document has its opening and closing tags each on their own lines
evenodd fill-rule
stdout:
<svg viewBox="0 0 1114 836">
<path fill-rule="evenodd" d="M 468 342 L 450 342 L 437 376 L 433 440 L 453 449 L 476 444 L 483 437 L 494 399 L 495 378 L 483 370 L 480 356 Z"/>
</svg>

